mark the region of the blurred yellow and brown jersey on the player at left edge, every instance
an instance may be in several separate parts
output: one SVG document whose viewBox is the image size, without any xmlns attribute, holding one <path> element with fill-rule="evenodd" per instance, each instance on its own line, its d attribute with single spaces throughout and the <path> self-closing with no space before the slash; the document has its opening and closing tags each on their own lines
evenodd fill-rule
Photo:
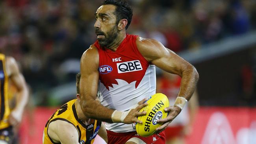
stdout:
<svg viewBox="0 0 256 144">
<path fill-rule="evenodd" d="M 6 57 L 0 54 L 0 129 L 9 127 L 8 118 L 10 115 L 8 101 L 8 75 L 6 73 Z"/>
</svg>

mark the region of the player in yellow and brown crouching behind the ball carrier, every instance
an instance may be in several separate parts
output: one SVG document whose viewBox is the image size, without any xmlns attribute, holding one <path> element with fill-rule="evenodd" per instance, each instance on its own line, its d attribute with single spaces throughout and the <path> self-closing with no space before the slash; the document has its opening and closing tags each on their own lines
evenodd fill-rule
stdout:
<svg viewBox="0 0 256 144">
<path fill-rule="evenodd" d="M 87 118 L 80 105 L 80 77 L 76 75 L 76 97 L 62 105 L 48 120 L 43 133 L 43 144 L 93 144 L 96 135 L 106 142 L 106 128 L 102 122 Z"/>
</svg>

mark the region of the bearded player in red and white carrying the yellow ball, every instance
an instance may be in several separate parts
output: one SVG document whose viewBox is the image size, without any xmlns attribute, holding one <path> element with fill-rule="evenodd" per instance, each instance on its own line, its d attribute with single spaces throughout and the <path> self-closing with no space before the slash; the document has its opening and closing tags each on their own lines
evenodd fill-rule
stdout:
<svg viewBox="0 0 256 144">
<path fill-rule="evenodd" d="M 164 144 L 165 127 L 191 98 L 197 70 L 153 39 L 126 34 L 132 20 L 131 7 L 122 0 L 105 0 L 95 13 L 97 41 L 81 57 L 81 106 L 89 118 L 106 121 L 109 144 Z M 145 98 L 156 92 L 155 65 L 182 77 L 181 89 L 158 134 L 140 137 L 134 122 Z M 100 103 L 96 102 L 99 90 Z M 139 106 L 136 107 L 137 103 Z M 97 109 L 97 110 L 96 110 Z M 96 110 L 96 111 L 95 111 Z"/>
</svg>

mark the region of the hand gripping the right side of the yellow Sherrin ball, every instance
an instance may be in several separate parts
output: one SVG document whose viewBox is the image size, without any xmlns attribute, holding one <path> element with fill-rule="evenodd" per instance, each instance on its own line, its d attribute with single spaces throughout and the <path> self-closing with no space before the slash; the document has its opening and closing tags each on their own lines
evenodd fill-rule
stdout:
<svg viewBox="0 0 256 144">
<path fill-rule="evenodd" d="M 171 106 L 164 109 L 165 112 L 169 112 L 168 116 L 164 119 L 158 120 L 157 123 L 163 123 L 156 129 L 156 133 L 161 133 L 170 124 L 174 118 L 181 112 L 181 109 L 177 106 Z"/>
</svg>

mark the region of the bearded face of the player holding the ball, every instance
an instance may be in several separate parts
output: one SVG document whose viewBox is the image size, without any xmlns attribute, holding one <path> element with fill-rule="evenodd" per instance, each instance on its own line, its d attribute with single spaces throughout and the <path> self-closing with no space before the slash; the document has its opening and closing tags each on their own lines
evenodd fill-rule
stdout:
<svg viewBox="0 0 256 144">
<path fill-rule="evenodd" d="M 95 33 L 100 46 L 109 46 L 117 37 L 117 18 L 114 5 L 100 6 L 95 13 Z"/>
</svg>

